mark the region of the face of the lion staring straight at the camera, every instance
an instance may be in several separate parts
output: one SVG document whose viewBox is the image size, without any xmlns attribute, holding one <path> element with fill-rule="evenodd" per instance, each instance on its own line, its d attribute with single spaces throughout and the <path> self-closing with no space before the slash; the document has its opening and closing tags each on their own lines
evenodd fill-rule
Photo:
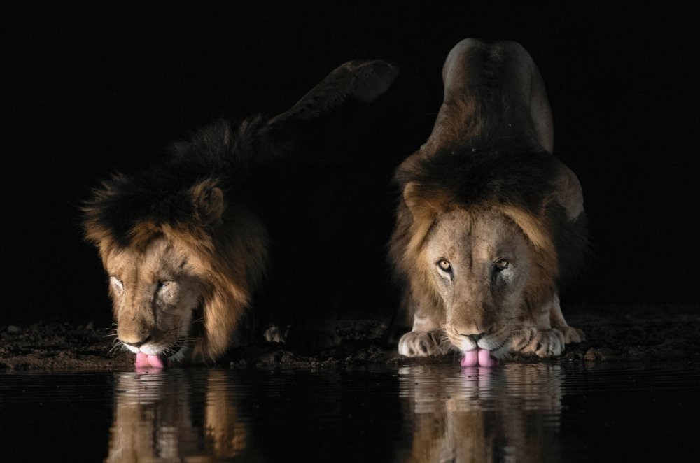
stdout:
<svg viewBox="0 0 700 463">
<path fill-rule="evenodd" d="M 531 273 L 524 234 L 489 209 L 457 209 L 436 220 L 423 259 L 442 299 L 449 340 L 463 352 L 507 349 Z"/>
</svg>

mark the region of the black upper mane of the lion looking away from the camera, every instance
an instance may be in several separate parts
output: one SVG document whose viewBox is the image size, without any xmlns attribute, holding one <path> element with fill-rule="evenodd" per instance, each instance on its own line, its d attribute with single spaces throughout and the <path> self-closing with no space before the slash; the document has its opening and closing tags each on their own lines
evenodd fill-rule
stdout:
<svg viewBox="0 0 700 463">
<path fill-rule="evenodd" d="M 130 244 L 130 232 L 139 223 L 195 226 L 192 189 L 206 182 L 220 187 L 227 201 L 245 203 L 260 187 L 255 171 L 279 157 L 279 137 L 262 117 L 240 124 L 218 120 L 188 141 L 173 143 L 165 162 L 135 173 L 118 173 L 94 190 L 83 206 L 86 224 L 105 229 L 118 245 Z"/>
</svg>

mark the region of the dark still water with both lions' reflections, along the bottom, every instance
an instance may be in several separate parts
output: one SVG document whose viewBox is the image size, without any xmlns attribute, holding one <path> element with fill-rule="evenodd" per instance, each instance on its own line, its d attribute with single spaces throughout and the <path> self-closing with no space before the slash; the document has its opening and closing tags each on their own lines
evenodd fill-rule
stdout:
<svg viewBox="0 0 700 463">
<path fill-rule="evenodd" d="M 697 461 L 700 366 L 0 373 L 0 462 Z"/>
</svg>

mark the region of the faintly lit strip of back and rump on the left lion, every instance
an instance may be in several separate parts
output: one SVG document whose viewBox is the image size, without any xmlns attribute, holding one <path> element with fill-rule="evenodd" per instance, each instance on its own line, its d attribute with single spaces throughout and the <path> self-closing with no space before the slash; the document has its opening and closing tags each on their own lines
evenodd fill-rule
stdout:
<svg viewBox="0 0 700 463">
<path fill-rule="evenodd" d="M 398 73 L 398 65 L 393 62 L 346 62 L 328 74 L 294 106 L 270 120 L 269 124 L 322 117 L 348 101 L 371 104 L 391 87 Z"/>
</svg>

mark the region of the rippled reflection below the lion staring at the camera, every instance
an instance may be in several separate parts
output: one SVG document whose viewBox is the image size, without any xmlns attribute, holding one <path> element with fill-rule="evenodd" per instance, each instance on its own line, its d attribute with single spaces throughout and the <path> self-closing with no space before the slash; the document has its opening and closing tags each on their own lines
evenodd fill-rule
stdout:
<svg viewBox="0 0 700 463">
<path fill-rule="evenodd" d="M 399 370 L 415 462 L 559 461 L 561 370 L 506 364 L 446 374 L 444 365 Z"/>
</svg>

